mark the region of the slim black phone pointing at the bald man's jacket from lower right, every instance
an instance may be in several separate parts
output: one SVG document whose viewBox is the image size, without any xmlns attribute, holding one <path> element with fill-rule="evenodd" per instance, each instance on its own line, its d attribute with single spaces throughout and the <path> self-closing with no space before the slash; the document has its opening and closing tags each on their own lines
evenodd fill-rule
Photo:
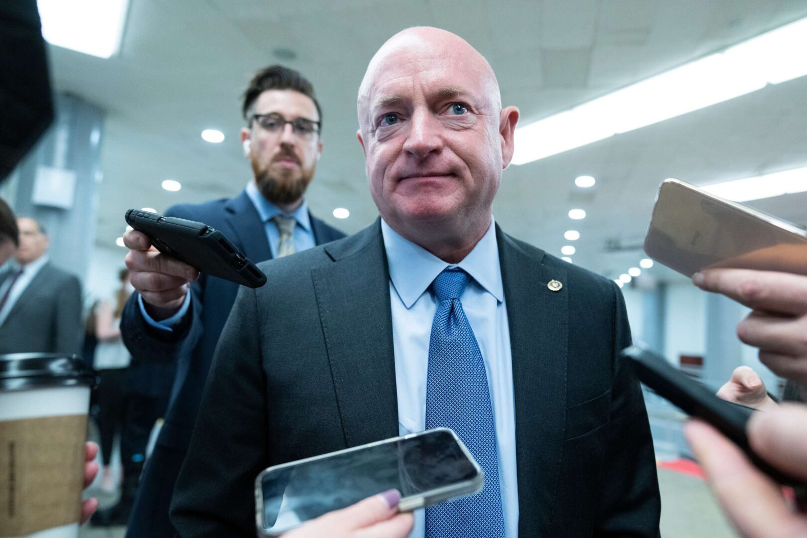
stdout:
<svg viewBox="0 0 807 538">
<path fill-rule="evenodd" d="M 666 398 L 684 413 L 704 420 L 728 437 L 763 473 L 785 486 L 803 488 L 803 480 L 792 478 L 768 465 L 756 455 L 746 436 L 746 425 L 751 415 L 761 413 L 717 397 L 713 390 L 696 382 L 692 377 L 673 367 L 667 359 L 641 346 L 625 348 L 621 356 L 627 359 L 639 381 L 656 394 Z"/>
</svg>

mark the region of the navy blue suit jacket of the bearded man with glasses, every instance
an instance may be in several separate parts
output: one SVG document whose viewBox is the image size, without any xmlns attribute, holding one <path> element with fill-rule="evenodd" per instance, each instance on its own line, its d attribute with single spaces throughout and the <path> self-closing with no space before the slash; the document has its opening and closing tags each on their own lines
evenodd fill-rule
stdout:
<svg viewBox="0 0 807 538">
<path fill-rule="evenodd" d="M 173 206 L 165 215 L 207 223 L 222 231 L 255 263 L 272 257 L 264 224 L 246 191 L 236 198 Z M 311 225 L 316 244 L 345 236 L 313 215 Z M 136 294 L 123 311 L 120 327 L 123 342 L 132 357 L 135 360 L 173 361 L 177 365 L 165 423 L 144 469 L 129 520 L 127 536 L 130 538 L 174 536 L 168 519 L 174 482 L 190 443 L 213 352 L 239 287 L 221 278 L 200 275 L 199 280 L 190 286 L 193 294 L 190 311 L 174 327 L 174 332 L 148 325 L 140 314 Z"/>
</svg>

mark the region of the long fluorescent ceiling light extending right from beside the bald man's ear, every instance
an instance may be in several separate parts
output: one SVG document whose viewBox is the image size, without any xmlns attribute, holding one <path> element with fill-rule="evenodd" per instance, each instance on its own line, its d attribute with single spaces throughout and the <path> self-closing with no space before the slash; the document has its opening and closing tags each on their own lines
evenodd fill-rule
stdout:
<svg viewBox="0 0 807 538">
<path fill-rule="evenodd" d="M 807 74 L 807 18 L 516 129 L 524 165 Z"/>
</svg>

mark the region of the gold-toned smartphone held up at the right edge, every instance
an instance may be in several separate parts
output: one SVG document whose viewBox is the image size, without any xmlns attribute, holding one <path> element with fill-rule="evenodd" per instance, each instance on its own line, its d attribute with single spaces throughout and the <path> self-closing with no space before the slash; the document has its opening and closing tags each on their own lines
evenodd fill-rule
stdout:
<svg viewBox="0 0 807 538">
<path fill-rule="evenodd" d="M 688 277 L 713 268 L 807 274 L 807 232 L 677 179 L 659 188 L 645 252 Z"/>
</svg>

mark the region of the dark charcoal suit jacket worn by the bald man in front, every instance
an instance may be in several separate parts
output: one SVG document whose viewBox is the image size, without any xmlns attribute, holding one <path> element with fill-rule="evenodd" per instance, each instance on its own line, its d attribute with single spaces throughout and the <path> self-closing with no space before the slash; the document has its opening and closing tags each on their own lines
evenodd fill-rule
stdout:
<svg viewBox="0 0 807 538">
<path fill-rule="evenodd" d="M 658 536 L 650 427 L 614 282 L 497 227 L 516 404 L 519 535 Z M 179 536 L 255 536 L 268 465 L 398 435 L 378 222 L 261 265 L 216 348 L 172 503 Z M 562 290 L 550 291 L 550 280 Z"/>
</svg>

